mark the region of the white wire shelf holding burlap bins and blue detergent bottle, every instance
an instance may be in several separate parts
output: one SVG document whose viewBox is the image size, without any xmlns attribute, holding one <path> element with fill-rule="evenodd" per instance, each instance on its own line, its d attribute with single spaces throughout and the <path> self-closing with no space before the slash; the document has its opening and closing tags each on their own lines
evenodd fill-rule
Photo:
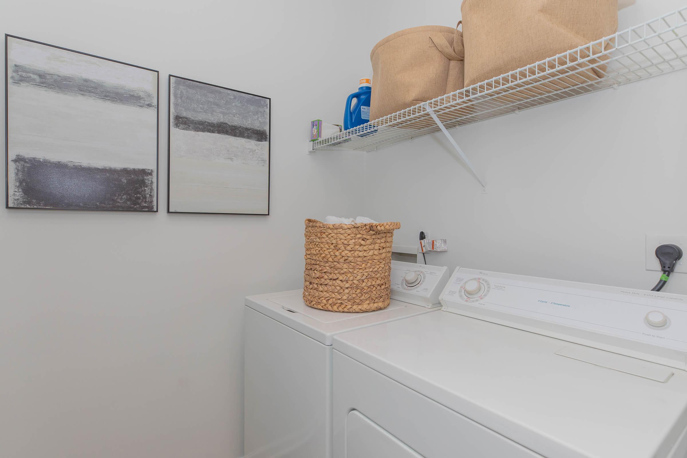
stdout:
<svg viewBox="0 0 687 458">
<path fill-rule="evenodd" d="M 527 67 L 311 142 L 372 151 L 687 68 L 687 6 Z M 433 116 L 434 115 L 434 116 Z M 436 119 L 440 123 L 436 122 Z"/>
</svg>

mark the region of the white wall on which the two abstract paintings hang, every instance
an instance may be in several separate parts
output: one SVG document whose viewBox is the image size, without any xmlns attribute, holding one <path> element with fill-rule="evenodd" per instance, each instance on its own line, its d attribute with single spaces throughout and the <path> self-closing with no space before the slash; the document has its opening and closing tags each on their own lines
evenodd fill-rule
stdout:
<svg viewBox="0 0 687 458">
<path fill-rule="evenodd" d="M 0 209 L 3 458 L 243 455 L 243 297 L 302 286 L 305 218 L 359 213 L 362 155 L 305 153 L 367 68 L 363 3 L 2 4 L 1 32 L 157 69 L 161 95 L 159 214 Z M 272 98 L 271 216 L 166 214 L 168 73 Z"/>
</svg>

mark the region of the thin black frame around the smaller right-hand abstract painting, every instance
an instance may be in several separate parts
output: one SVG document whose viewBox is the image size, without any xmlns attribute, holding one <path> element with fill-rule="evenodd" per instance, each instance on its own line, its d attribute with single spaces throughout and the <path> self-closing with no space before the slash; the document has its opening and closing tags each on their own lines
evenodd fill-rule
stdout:
<svg viewBox="0 0 687 458">
<path fill-rule="evenodd" d="M 267 100 L 268 102 L 268 125 L 267 125 L 267 213 L 220 213 L 214 211 L 171 211 L 170 209 L 170 174 L 172 170 L 171 162 L 171 133 L 172 133 L 172 78 L 178 78 L 179 80 L 186 80 L 190 82 L 196 82 L 199 84 L 205 84 L 207 86 L 216 87 L 218 89 L 225 89 L 227 91 L 234 91 L 246 95 L 252 95 L 254 97 L 259 97 Z M 217 84 L 211 84 L 209 82 L 192 80 L 191 78 L 184 78 L 183 76 L 177 76 L 170 74 L 168 76 L 167 84 L 167 213 L 168 214 L 193 214 L 193 215 L 245 215 L 245 216 L 269 216 L 270 211 L 270 201 L 271 201 L 271 170 L 272 170 L 272 99 L 265 97 L 264 95 L 258 95 L 254 93 L 249 93 L 246 91 L 239 91 L 238 89 L 232 89 L 229 87 L 218 86 Z"/>
</svg>

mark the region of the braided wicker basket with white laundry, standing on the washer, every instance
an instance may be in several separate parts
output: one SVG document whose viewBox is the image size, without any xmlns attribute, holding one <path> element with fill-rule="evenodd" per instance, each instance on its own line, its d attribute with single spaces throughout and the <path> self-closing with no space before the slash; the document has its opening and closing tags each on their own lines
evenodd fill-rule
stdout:
<svg viewBox="0 0 687 458">
<path fill-rule="evenodd" d="M 391 301 L 391 249 L 400 222 L 327 225 L 305 220 L 303 300 L 333 312 L 370 312 Z"/>
</svg>

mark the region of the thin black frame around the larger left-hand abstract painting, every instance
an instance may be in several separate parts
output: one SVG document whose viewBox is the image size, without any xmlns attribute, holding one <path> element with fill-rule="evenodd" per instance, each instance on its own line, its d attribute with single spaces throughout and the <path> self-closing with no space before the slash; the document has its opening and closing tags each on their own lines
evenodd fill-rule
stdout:
<svg viewBox="0 0 687 458">
<path fill-rule="evenodd" d="M 155 209 L 98 209 L 98 208 L 58 208 L 58 207 L 12 207 L 10 206 L 10 179 L 9 179 L 9 159 L 10 159 L 10 149 L 9 149 L 9 79 L 8 78 L 8 43 L 10 38 L 15 38 L 17 40 L 28 41 L 30 43 L 36 43 L 37 45 L 43 45 L 48 47 L 53 47 L 56 49 L 61 49 L 63 51 L 74 52 L 76 54 L 82 54 L 83 56 L 89 56 L 92 58 L 107 60 L 109 62 L 114 62 L 121 65 L 127 65 L 129 67 L 135 67 L 138 69 L 155 72 L 155 80 L 157 81 L 157 91 L 155 93 L 155 118 L 156 118 L 156 146 L 155 146 Z M 69 49 L 66 47 L 61 47 L 57 45 L 51 45 L 49 43 L 43 43 L 41 41 L 31 40 L 30 38 L 23 38 L 21 36 L 16 36 L 12 34 L 5 34 L 5 209 L 17 209 L 17 210 L 67 210 L 67 211 L 126 211 L 131 213 L 157 213 L 159 211 L 159 149 L 160 149 L 160 77 L 159 71 L 154 69 L 149 69 L 147 67 L 142 67 L 140 65 L 129 64 L 127 62 L 122 62 L 120 60 L 110 59 L 102 56 L 96 56 L 95 54 L 89 54 L 82 51 L 76 51 L 75 49 Z"/>
</svg>

